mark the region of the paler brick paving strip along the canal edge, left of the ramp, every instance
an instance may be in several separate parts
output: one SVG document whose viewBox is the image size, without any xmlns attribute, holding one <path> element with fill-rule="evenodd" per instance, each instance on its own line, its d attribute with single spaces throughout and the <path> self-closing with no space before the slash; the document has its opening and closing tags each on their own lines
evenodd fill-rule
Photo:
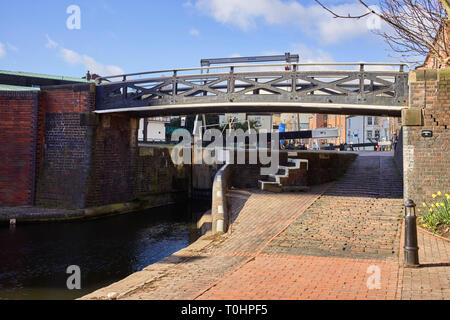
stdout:
<svg viewBox="0 0 450 320">
<path fill-rule="evenodd" d="M 280 230 L 311 205 L 328 185 L 308 193 L 272 194 L 258 190 L 230 192 L 232 232 L 203 237 L 174 255 L 124 280 L 97 290 L 83 299 L 193 299 L 222 278 L 226 278 L 249 257 L 257 254 Z M 263 206 L 265 210 L 255 210 Z"/>
</svg>

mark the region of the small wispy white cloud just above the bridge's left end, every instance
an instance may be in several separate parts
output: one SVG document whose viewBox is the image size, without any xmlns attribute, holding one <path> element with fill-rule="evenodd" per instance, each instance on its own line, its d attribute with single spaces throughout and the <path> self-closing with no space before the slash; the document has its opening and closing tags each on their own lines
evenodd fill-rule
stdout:
<svg viewBox="0 0 450 320">
<path fill-rule="evenodd" d="M 86 71 L 89 70 L 91 74 L 96 73 L 101 76 L 112 76 L 125 73 L 122 68 L 118 66 L 104 65 L 88 55 L 61 47 L 58 43 L 50 39 L 48 35 L 46 35 L 46 37 L 47 44 L 45 46 L 49 49 L 58 48 L 63 60 L 71 65 L 82 65 Z"/>
</svg>

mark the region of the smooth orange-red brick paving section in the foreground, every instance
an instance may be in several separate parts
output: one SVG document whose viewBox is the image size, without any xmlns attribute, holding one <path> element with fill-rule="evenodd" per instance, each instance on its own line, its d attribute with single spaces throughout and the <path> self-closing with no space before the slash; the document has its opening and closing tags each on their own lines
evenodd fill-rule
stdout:
<svg viewBox="0 0 450 320">
<path fill-rule="evenodd" d="M 367 269 L 378 266 L 381 288 L 370 290 Z M 394 299 L 397 264 L 389 261 L 314 256 L 258 255 L 202 300 Z"/>
</svg>

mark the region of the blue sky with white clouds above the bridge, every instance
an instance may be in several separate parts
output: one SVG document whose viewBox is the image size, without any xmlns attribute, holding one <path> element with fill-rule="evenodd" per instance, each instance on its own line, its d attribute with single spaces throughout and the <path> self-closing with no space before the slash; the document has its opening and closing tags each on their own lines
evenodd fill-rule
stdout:
<svg viewBox="0 0 450 320">
<path fill-rule="evenodd" d="M 323 0 L 339 13 L 356 0 Z M 75 9 L 74 9 L 75 8 Z M 300 62 L 400 62 L 374 17 L 312 0 L 0 0 L 0 70 L 82 77 L 284 54 Z"/>
</svg>

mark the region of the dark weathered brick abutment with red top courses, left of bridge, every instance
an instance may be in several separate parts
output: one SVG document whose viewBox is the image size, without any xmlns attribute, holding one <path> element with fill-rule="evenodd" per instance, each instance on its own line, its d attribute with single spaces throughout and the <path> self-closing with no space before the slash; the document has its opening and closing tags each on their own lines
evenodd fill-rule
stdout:
<svg viewBox="0 0 450 320">
<path fill-rule="evenodd" d="M 35 204 L 83 208 L 91 166 L 95 92 L 90 85 L 44 88 L 40 96 Z"/>
</svg>

